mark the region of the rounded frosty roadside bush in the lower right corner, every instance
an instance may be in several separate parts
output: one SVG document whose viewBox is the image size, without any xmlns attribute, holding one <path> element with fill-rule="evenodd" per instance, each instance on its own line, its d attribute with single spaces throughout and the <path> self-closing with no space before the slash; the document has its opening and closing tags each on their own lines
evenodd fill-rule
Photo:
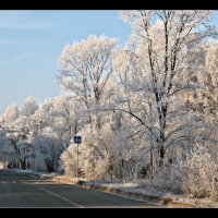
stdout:
<svg viewBox="0 0 218 218">
<path fill-rule="evenodd" d="M 206 146 L 196 144 L 186 159 L 179 162 L 178 175 L 184 193 L 218 198 L 218 165 Z"/>
</svg>

